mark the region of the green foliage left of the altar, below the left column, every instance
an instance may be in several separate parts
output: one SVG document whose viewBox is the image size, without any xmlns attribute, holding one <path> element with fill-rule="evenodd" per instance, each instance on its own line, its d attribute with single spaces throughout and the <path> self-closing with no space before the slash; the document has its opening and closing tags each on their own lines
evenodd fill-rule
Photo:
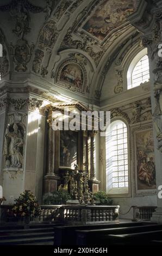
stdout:
<svg viewBox="0 0 162 256">
<path fill-rule="evenodd" d="M 52 193 L 47 193 L 43 196 L 44 204 L 65 204 L 67 200 L 70 200 L 71 196 L 62 188 Z"/>
</svg>

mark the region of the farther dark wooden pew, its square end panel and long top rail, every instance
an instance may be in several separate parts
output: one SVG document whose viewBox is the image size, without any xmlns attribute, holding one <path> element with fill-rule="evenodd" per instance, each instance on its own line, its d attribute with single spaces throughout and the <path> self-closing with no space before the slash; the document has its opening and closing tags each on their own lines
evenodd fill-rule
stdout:
<svg viewBox="0 0 162 256">
<path fill-rule="evenodd" d="M 142 223 L 109 223 L 109 224 L 94 224 L 94 225 L 76 225 L 76 226 L 61 226 L 54 227 L 54 245 L 75 245 L 76 230 L 98 230 L 122 227 L 135 227 L 148 225 L 147 222 Z"/>
</svg>

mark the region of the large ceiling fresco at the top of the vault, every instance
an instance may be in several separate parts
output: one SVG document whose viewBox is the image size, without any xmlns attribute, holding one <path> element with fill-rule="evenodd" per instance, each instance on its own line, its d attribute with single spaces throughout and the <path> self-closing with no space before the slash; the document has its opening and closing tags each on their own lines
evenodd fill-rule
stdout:
<svg viewBox="0 0 162 256">
<path fill-rule="evenodd" d="M 114 28 L 123 25 L 135 10 L 135 0 L 105 0 L 83 29 L 103 40 Z"/>
</svg>

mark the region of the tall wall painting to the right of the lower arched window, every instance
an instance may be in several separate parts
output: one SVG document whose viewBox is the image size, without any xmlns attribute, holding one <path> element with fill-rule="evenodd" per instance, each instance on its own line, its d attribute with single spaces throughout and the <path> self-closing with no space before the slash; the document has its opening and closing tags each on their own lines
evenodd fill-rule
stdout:
<svg viewBox="0 0 162 256">
<path fill-rule="evenodd" d="M 138 190 L 156 188 L 152 130 L 136 133 L 136 177 Z"/>
</svg>

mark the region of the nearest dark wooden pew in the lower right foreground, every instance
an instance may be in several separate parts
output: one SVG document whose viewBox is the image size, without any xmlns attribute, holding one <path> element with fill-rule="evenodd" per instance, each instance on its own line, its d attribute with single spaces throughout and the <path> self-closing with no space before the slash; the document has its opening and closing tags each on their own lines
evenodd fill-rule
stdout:
<svg viewBox="0 0 162 256">
<path fill-rule="evenodd" d="M 76 230 L 76 245 L 150 245 L 154 240 L 160 241 L 161 235 L 162 224 L 147 223 L 134 227 L 119 224 L 108 229 Z"/>
</svg>

